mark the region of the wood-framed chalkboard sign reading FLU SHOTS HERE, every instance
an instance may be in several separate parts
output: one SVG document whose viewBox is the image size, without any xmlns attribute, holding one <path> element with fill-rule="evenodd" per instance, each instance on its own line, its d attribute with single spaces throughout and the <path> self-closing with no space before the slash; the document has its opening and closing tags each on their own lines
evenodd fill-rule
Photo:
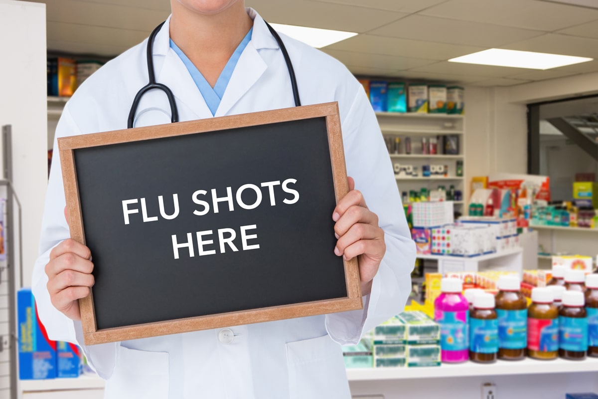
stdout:
<svg viewBox="0 0 598 399">
<path fill-rule="evenodd" d="M 86 345 L 361 309 L 337 103 L 58 140 Z"/>
</svg>

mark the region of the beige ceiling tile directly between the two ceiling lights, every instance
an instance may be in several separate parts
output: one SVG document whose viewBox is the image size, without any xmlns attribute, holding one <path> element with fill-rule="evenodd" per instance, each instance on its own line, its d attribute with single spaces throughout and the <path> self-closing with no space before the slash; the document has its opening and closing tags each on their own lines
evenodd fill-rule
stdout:
<svg viewBox="0 0 598 399">
<path fill-rule="evenodd" d="M 475 51 L 485 50 L 483 47 L 440 44 L 373 35 L 353 36 L 352 38 L 331 44 L 325 48 L 431 60 L 447 60 L 453 57 L 475 53 Z"/>
</svg>

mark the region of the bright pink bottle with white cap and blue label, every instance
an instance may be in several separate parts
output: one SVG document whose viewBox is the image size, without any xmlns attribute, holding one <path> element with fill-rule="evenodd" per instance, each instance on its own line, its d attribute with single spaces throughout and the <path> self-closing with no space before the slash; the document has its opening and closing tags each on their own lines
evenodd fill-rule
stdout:
<svg viewBox="0 0 598 399">
<path fill-rule="evenodd" d="M 461 294 L 463 284 L 458 278 L 443 278 L 442 294 L 434 301 L 434 320 L 440 324 L 441 359 L 444 363 L 459 363 L 469 358 L 469 303 Z"/>
</svg>

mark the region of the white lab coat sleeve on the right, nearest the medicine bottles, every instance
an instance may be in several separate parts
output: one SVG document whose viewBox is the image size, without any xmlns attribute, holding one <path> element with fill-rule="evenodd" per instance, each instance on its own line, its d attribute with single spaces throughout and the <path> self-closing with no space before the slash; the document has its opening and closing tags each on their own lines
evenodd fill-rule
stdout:
<svg viewBox="0 0 598 399">
<path fill-rule="evenodd" d="M 386 254 L 374 277 L 364 309 L 326 316 L 328 334 L 340 345 L 355 344 L 365 331 L 402 312 L 411 292 L 411 270 L 416 250 L 380 127 L 361 85 L 348 112 L 343 113 L 347 175 L 364 195 L 368 208 L 379 217 Z"/>
</svg>

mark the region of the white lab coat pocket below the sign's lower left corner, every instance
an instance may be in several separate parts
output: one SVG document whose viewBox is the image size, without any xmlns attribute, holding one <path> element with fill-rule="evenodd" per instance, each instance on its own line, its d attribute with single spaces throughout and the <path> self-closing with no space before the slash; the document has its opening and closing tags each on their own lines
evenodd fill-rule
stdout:
<svg viewBox="0 0 598 399">
<path fill-rule="evenodd" d="M 114 373 L 106 381 L 106 399 L 167 399 L 168 353 L 118 346 Z"/>
</svg>

